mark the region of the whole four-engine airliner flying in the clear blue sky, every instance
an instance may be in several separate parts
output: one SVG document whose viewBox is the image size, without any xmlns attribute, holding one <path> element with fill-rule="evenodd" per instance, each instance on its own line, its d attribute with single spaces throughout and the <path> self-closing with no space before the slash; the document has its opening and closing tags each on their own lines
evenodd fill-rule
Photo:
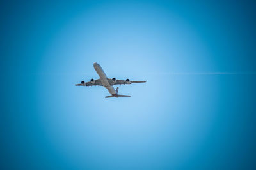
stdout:
<svg viewBox="0 0 256 170">
<path fill-rule="evenodd" d="M 81 81 L 80 84 L 76 84 L 77 86 L 104 86 L 106 89 L 108 89 L 108 92 L 111 94 L 111 96 L 106 96 L 105 98 L 109 98 L 109 97 L 131 97 L 129 95 L 122 95 L 122 94 L 118 94 L 118 89 L 119 87 L 116 88 L 116 90 L 114 89 L 113 85 L 130 85 L 132 83 L 146 83 L 147 81 L 130 81 L 129 78 L 127 78 L 126 80 L 116 80 L 116 78 L 108 78 L 107 75 L 104 73 L 102 67 L 100 67 L 100 64 L 98 64 L 97 62 L 93 63 L 93 67 L 95 69 L 95 71 L 97 72 L 97 74 L 99 75 L 99 79 L 94 80 L 93 78 L 91 79 L 91 81 L 88 82 L 84 82 Z"/>
</svg>

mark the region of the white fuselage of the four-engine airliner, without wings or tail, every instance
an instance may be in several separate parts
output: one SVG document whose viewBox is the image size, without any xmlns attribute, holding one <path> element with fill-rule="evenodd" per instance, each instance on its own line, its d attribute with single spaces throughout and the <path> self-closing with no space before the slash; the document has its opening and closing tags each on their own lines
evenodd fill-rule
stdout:
<svg viewBox="0 0 256 170">
<path fill-rule="evenodd" d="M 103 85 L 106 89 L 108 89 L 108 92 L 109 92 L 111 95 L 115 95 L 115 94 L 116 94 L 116 91 L 115 91 L 114 87 L 109 84 L 109 82 L 108 82 L 108 77 L 107 77 L 107 75 L 104 73 L 102 67 L 100 67 L 100 64 L 98 64 L 97 62 L 95 62 L 95 63 L 93 63 L 93 67 L 94 67 L 95 71 L 98 73 L 102 85 Z"/>
</svg>

